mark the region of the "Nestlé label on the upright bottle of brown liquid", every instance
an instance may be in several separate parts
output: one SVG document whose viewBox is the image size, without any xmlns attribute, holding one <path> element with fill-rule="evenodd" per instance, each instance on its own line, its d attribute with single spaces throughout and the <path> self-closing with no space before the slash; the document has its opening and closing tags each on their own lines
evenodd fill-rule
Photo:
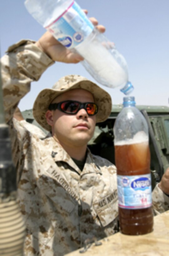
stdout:
<svg viewBox="0 0 169 256">
<path fill-rule="evenodd" d="M 152 205 L 151 174 L 117 175 L 117 184 L 120 208 L 141 209 Z"/>
</svg>

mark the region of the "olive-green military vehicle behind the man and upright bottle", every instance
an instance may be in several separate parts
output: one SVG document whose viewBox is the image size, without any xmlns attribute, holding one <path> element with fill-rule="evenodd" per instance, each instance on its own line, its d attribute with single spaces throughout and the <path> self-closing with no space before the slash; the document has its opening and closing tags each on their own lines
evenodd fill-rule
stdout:
<svg viewBox="0 0 169 256">
<path fill-rule="evenodd" d="M 162 178 L 169 167 L 169 107 L 168 106 L 136 106 L 145 117 L 149 127 L 152 189 Z M 96 125 L 93 138 L 89 141 L 89 148 L 95 155 L 100 155 L 113 164 L 114 160 L 114 135 L 113 126 L 118 113 L 123 105 L 113 105 L 109 118 Z M 44 130 L 32 115 L 32 110 L 22 112 L 24 119 Z"/>
</svg>

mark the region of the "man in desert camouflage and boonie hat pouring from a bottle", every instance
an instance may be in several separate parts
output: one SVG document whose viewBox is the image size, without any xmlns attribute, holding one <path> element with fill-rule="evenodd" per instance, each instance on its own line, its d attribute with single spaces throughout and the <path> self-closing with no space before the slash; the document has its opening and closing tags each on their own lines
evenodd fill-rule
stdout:
<svg viewBox="0 0 169 256">
<path fill-rule="evenodd" d="M 97 25 L 96 20 L 93 23 Z M 104 27 L 98 28 L 104 32 Z M 18 203 L 27 227 L 26 255 L 64 255 L 83 246 L 86 239 L 102 239 L 118 231 L 116 168 L 87 148 L 96 122 L 110 114 L 110 95 L 82 76 L 65 76 L 52 89 L 41 91 L 33 106 L 36 121 L 51 136 L 40 139 L 12 118 L 31 81 L 37 81 L 54 61 L 80 60 L 49 32 L 37 42 L 18 42 L 2 58 Z M 158 213 L 169 209 L 168 176 L 169 170 L 153 191 Z"/>
</svg>

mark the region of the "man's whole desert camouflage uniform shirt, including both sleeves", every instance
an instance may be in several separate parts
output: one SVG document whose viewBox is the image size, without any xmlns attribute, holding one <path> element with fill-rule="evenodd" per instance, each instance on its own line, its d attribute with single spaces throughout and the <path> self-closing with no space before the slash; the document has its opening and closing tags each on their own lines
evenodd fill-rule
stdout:
<svg viewBox="0 0 169 256">
<path fill-rule="evenodd" d="M 10 47 L 2 58 L 6 121 L 17 167 L 18 202 L 27 227 L 25 255 L 64 255 L 86 239 L 101 239 L 118 229 L 115 166 L 88 150 L 81 172 L 53 137 L 40 139 L 12 119 L 30 82 L 52 63 L 31 41 Z M 156 211 L 169 209 L 166 198 L 155 189 Z"/>
</svg>

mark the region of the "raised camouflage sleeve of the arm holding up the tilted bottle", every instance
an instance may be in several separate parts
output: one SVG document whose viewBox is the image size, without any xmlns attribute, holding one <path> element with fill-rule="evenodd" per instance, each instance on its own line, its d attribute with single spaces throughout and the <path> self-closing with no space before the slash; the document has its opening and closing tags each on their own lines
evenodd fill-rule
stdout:
<svg viewBox="0 0 169 256">
<path fill-rule="evenodd" d="M 22 40 L 8 48 L 1 59 L 3 101 L 6 122 L 30 90 L 30 83 L 37 81 L 48 66 L 54 62 L 33 41 Z"/>
</svg>

